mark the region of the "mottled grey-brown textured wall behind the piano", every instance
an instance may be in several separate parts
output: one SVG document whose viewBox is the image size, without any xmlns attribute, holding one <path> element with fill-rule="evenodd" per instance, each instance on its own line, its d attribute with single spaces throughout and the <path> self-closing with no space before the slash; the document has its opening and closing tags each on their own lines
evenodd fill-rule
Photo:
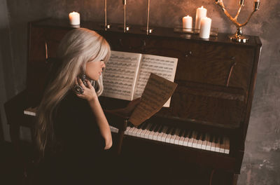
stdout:
<svg viewBox="0 0 280 185">
<path fill-rule="evenodd" d="M 228 11 L 236 13 L 238 0 L 224 1 Z M 104 0 L 6 0 L 6 3 L 13 46 L 10 50 L 13 53 L 12 69 L 7 70 L 13 72 L 15 78 L 15 81 L 9 81 L 13 83 L 14 94 L 25 88 L 28 21 L 45 17 L 67 18 L 71 11 L 78 11 L 82 20 L 101 22 L 104 16 Z M 108 22 L 122 23 L 121 0 L 108 0 L 107 4 Z M 145 25 L 146 5 L 147 0 L 127 0 L 127 24 Z M 186 14 L 195 18 L 195 9 L 200 6 L 207 8 L 212 27 L 218 27 L 219 32 L 235 32 L 235 26 L 214 0 L 151 0 L 150 25 L 176 27 Z M 252 9 L 253 0 L 246 0 L 239 20 L 246 20 Z M 239 184 L 280 184 L 279 10 L 279 0 L 261 0 L 260 11 L 244 27 L 244 34 L 260 36 L 263 45 Z"/>
</svg>

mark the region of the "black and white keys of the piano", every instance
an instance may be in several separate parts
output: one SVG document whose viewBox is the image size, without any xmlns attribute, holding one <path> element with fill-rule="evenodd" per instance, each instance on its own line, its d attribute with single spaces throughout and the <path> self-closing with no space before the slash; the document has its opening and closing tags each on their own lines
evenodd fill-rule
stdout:
<svg viewBox="0 0 280 185">
<path fill-rule="evenodd" d="M 118 133 L 118 128 L 110 125 L 113 133 Z M 125 135 L 139 137 L 168 144 L 181 145 L 204 151 L 230 154 L 230 139 L 223 135 L 213 135 L 190 129 L 181 129 L 157 123 L 144 122 L 138 127 L 129 123 Z"/>
</svg>

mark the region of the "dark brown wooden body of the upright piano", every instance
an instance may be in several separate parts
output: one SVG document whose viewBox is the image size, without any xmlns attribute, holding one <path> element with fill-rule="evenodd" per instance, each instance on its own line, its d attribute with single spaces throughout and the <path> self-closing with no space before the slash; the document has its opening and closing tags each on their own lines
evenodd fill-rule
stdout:
<svg viewBox="0 0 280 185">
<path fill-rule="evenodd" d="M 107 31 L 94 22 L 83 22 L 81 27 L 102 34 L 112 50 L 179 59 L 175 76 L 178 87 L 171 105 L 162 108 L 149 121 L 230 138 L 230 153 L 227 154 L 125 135 L 125 151 L 135 147 L 143 151 L 139 156 L 165 159 L 173 156 L 180 163 L 195 163 L 239 174 L 260 56 L 261 43 L 257 36 L 250 36 L 248 43 L 234 43 L 227 34 L 202 40 L 197 35 L 174 33 L 170 28 L 155 28 L 152 34 L 146 35 L 139 26 L 127 33 L 117 25 Z M 5 105 L 10 135 L 16 146 L 19 126 L 32 128 L 33 124 L 33 119 L 24 115 L 23 110 L 38 105 L 41 100 L 50 71 L 55 67 L 51 59 L 56 57 L 59 41 L 71 29 L 74 28 L 66 20 L 29 23 L 27 89 Z M 127 101 L 106 97 L 100 100 L 105 109 L 127 104 Z M 236 180 L 237 175 L 234 184 Z"/>
</svg>

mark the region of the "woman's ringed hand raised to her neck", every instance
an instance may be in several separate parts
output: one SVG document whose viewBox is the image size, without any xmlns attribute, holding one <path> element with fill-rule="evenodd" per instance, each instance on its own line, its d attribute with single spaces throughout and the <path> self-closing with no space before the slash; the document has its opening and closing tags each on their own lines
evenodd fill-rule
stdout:
<svg viewBox="0 0 280 185">
<path fill-rule="evenodd" d="M 86 82 L 87 82 L 87 87 L 83 84 L 83 81 L 80 78 L 78 78 L 78 80 L 76 79 L 76 84 L 80 85 L 83 88 L 83 94 L 76 94 L 76 95 L 80 98 L 87 100 L 88 102 L 92 100 L 97 100 L 98 97 L 94 87 L 92 86 L 90 81 L 86 81 Z"/>
</svg>

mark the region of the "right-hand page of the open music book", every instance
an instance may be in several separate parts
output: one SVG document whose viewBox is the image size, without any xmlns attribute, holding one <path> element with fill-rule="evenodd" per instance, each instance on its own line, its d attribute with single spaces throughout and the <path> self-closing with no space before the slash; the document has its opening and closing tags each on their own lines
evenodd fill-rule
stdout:
<svg viewBox="0 0 280 185">
<path fill-rule="evenodd" d="M 145 85 L 151 73 L 157 74 L 169 81 L 174 81 L 178 58 L 162 57 L 158 55 L 142 55 L 142 60 L 137 76 L 137 84 L 134 90 L 133 99 L 141 97 Z M 169 107 L 170 99 L 164 105 Z"/>
</svg>

